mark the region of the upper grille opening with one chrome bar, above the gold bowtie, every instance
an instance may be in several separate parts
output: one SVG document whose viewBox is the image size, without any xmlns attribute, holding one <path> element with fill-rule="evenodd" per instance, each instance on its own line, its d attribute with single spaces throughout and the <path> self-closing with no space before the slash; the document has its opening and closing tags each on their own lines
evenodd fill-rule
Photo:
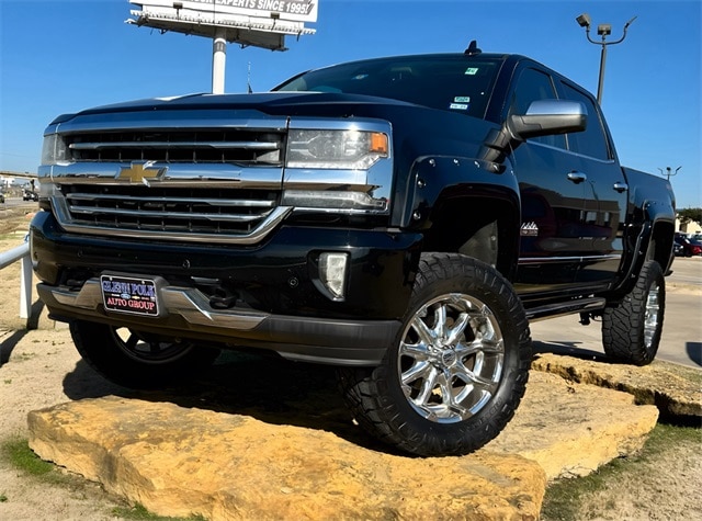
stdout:
<svg viewBox="0 0 702 521">
<path fill-rule="evenodd" d="M 264 131 L 118 131 L 66 134 L 72 161 L 282 165 L 284 134 Z"/>
</svg>

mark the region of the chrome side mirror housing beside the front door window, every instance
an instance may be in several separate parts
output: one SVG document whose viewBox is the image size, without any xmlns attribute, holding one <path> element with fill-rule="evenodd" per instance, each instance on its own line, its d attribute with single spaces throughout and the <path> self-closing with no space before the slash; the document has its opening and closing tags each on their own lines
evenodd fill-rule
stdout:
<svg viewBox="0 0 702 521">
<path fill-rule="evenodd" d="M 512 114 L 507 120 L 510 134 L 520 140 L 582 132 L 587 127 L 587 110 L 578 101 L 537 100 L 529 105 L 526 114 Z"/>
</svg>

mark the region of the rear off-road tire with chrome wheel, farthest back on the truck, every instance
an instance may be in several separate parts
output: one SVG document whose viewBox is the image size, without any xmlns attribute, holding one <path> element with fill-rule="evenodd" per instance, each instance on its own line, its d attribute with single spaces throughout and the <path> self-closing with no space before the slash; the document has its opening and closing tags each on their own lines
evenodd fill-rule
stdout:
<svg viewBox="0 0 702 521">
<path fill-rule="evenodd" d="M 660 343 L 665 310 L 663 269 L 656 261 L 646 261 L 631 293 L 622 302 L 604 308 L 604 353 L 618 362 L 634 365 L 653 362 Z"/>
</svg>

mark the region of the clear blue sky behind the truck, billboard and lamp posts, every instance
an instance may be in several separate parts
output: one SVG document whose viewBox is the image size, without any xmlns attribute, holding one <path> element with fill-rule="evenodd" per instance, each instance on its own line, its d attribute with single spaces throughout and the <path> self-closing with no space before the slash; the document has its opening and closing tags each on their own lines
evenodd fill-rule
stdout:
<svg viewBox="0 0 702 521">
<path fill-rule="evenodd" d="M 127 25 L 127 0 L 0 0 L 0 170 L 36 171 L 42 133 L 56 115 L 94 105 L 212 87 L 212 41 Z M 319 0 L 317 34 L 288 37 L 290 50 L 227 47 L 226 91 L 253 90 L 296 72 L 393 54 L 519 53 L 597 92 L 600 46 L 637 15 L 626 39 L 608 49 L 602 107 L 622 162 L 671 182 L 678 207 L 702 206 L 702 2 Z"/>
</svg>

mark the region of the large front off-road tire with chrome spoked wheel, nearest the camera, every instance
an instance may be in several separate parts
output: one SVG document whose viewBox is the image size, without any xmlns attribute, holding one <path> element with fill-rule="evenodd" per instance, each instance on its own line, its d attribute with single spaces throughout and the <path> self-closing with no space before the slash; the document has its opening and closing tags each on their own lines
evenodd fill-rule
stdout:
<svg viewBox="0 0 702 521">
<path fill-rule="evenodd" d="M 420 321 L 432 335 L 442 331 L 423 347 Z M 355 420 L 372 435 L 417 455 L 462 455 L 512 418 L 530 363 L 529 322 L 509 282 L 475 259 L 424 253 L 383 364 L 340 369 L 338 376 Z"/>
</svg>

